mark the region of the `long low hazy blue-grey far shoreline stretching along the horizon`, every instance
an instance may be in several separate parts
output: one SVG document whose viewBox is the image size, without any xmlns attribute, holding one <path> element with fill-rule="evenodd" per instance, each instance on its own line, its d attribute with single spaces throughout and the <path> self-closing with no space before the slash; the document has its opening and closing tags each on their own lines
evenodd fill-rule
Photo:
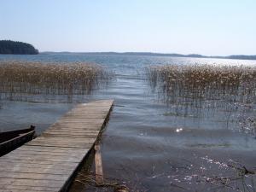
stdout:
<svg viewBox="0 0 256 192">
<path fill-rule="evenodd" d="M 236 60 L 256 60 L 256 55 L 229 55 L 229 56 L 206 56 L 198 54 L 163 54 L 163 53 L 152 53 L 152 52 L 54 52 L 45 51 L 41 54 L 86 54 L 86 55 L 145 55 L 145 56 L 172 56 L 172 57 L 193 57 L 193 58 L 218 58 L 218 59 L 236 59 Z"/>
</svg>

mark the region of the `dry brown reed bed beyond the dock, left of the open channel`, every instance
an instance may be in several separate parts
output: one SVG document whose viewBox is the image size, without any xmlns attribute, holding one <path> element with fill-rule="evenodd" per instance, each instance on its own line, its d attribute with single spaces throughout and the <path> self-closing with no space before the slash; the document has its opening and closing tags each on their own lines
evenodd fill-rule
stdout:
<svg viewBox="0 0 256 192">
<path fill-rule="evenodd" d="M 89 95 L 108 84 L 109 73 L 96 64 L 0 62 L 0 96 L 17 99 L 24 95 Z"/>
</svg>

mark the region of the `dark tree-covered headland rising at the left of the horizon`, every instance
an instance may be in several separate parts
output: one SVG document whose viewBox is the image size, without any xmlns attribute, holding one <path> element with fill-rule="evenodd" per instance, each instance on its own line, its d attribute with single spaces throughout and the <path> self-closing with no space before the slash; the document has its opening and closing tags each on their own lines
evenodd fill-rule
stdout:
<svg viewBox="0 0 256 192">
<path fill-rule="evenodd" d="M 35 49 L 32 44 L 11 40 L 0 40 L 0 54 L 37 55 L 38 49 Z"/>
</svg>

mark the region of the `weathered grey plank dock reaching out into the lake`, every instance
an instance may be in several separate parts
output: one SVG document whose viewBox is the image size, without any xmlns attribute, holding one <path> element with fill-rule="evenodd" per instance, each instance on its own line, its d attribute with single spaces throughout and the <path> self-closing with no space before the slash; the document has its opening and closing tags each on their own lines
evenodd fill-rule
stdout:
<svg viewBox="0 0 256 192">
<path fill-rule="evenodd" d="M 112 108 L 113 100 L 79 104 L 42 136 L 0 157 L 0 191 L 66 191 Z"/>
</svg>

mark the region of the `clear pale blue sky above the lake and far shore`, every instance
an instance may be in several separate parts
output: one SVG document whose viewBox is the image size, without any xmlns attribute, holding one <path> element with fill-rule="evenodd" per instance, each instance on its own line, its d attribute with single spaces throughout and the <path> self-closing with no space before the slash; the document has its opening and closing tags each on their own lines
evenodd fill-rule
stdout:
<svg viewBox="0 0 256 192">
<path fill-rule="evenodd" d="M 40 51 L 256 55 L 256 1 L 2 0 L 0 39 Z"/>
</svg>

